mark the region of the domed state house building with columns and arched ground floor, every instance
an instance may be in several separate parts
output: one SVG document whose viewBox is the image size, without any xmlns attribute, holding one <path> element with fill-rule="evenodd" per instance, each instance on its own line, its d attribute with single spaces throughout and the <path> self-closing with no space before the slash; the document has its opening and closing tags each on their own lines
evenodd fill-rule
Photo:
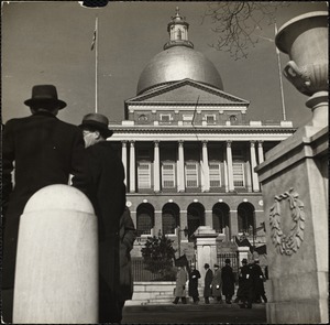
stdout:
<svg viewBox="0 0 330 325">
<path fill-rule="evenodd" d="M 125 169 L 136 245 L 166 234 L 189 254 L 199 226 L 213 228 L 219 241 L 244 234 L 263 245 L 254 167 L 295 129 L 290 121 L 248 121 L 249 101 L 223 90 L 215 65 L 194 50 L 188 28 L 177 9 L 169 41 L 142 71 L 136 96 L 125 100 L 125 120 L 110 124 L 109 140 Z"/>
</svg>

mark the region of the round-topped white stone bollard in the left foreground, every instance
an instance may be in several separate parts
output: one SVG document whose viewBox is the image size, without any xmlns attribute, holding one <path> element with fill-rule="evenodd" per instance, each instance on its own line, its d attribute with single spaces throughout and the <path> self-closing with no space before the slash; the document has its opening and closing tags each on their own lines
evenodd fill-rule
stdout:
<svg viewBox="0 0 330 325">
<path fill-rule="evenodd" d="M 40 189 L 21 216 L 13 323 L 98 323 L 97 218 L 72 186 Z"/>
</svg>

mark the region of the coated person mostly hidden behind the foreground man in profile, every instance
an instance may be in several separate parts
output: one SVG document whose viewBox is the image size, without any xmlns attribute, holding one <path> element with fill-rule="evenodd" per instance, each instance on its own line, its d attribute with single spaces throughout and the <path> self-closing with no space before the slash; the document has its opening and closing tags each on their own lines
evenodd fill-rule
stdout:
<svg viewBox="0 0 330 325">
<path fill-rule="evenodd" d="M 119 262 L 120 262 L 120 289 L 119 289 L 119 311 L 122 318 L 122 310 L 127 300 L 133 296 L 133 274 L 131 262 L 131 250 L 136 238 L 136 229 L 131 217 L 130 209 L 125 207 L 120 217 L 119 227 Z"/>
</svg>

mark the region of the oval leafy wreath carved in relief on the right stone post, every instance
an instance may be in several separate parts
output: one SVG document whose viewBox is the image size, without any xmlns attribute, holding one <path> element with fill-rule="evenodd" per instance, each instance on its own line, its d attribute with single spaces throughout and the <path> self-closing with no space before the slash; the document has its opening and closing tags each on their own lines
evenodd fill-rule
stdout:
<svg viewBox="0 0 330 325">
<path fill-rule="evenodd" d="M 292 187 L 289 192 L 275 196 L 275 204 L 271 207 L 270 225 L 272 241 L 282 254 L 292 256 L 300 247 L 304 240 L 305 213 L 304 203 Z M 293 225 L 289 235 L 283 234 L 280 228 L 280 202 L 287 199 L 292 210 Z"/>
</svg>

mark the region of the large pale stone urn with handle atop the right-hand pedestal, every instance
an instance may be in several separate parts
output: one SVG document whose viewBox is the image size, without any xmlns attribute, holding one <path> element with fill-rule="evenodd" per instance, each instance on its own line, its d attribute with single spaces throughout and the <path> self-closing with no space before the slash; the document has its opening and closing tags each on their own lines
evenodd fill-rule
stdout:
<svg viewBox="0 0 330 325">
<path fill-rule="evenodd" d="M 312 119 L 324 123 L 329 87 L 328 12 L 315 11 L 289 20 L 278 30 L 275 43 L 290 58 L 284 68 L 285 77 L 310 96 L 306 106 L 312 109 Z"/>
</svg>

